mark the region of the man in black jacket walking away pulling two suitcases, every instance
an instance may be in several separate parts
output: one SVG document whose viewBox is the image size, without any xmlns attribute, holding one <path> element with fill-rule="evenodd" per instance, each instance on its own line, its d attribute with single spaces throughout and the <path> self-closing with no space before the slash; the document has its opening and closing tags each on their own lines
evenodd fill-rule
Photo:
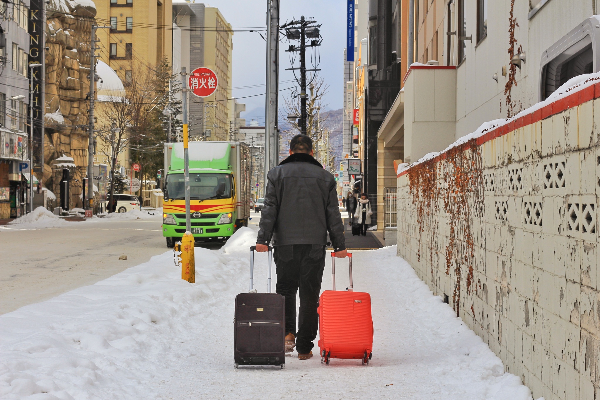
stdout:
<svg viewBox="0 0 600 400">
<path fill-rule="evenodd" d="M 346 257 L 336 182 L 313 158 L 313 141 L 296 135 L 290 156 L 269 171 L 256 251 L 273 239 L 277 286 L 286 298 L 286 352 L 308 360 L 319 327 L 319 293 L 325 267 L 327 233 L 336 257 Z M 300 291 L 296 332 L 296 293 Z"/>
</svg>

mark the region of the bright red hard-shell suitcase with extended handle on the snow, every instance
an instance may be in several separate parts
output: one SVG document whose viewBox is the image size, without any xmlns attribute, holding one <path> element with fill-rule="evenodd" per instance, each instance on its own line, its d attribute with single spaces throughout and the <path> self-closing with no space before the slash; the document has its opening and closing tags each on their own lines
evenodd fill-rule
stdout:
<svg viewBox="0 0 600 400">
<path fill-rule="evenodd" d="M 329 365 L 334 359 L 359 359 L 362 365 L 373 356 L 373 318 L 371 296 L 353 291 L 352 253 L 348 253 L 350 286 L 347 291 L 335 290 L 335 253 L 331 253 L 331 285 L 319 299 L 319 350 L 321 362 Z"/>
</svg>

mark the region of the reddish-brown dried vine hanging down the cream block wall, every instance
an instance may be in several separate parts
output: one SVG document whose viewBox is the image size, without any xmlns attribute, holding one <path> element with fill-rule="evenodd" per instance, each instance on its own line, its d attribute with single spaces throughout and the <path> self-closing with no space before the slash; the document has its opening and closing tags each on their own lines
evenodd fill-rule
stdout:
<svg viewBox="0 0 600 400">
<path fill-rule="evenodd" d="M 436 238 L 439 233 L 439 200 L 443 200 L 449 225 L 445 272 L 446 275 L 450 275 L 454 269 L 452 300 L 458 316 L 463 266 L 467 269 L 467 293 L 473 288 L 476 262 L 473 206 L 482 207 L 484 204 L 482 158 L 481 149 L 476 145 L 475 139 L 455 146 L 446 152 L 445 156 L 445 160 L 439 162 L 428 160 L 413 166 L 408 170 L 408 177 L 419 225 L 418 261 L 421 261 L 422 233 L 426 231 L 432 277 L 434 265 L 437 264 L 433 254 L 437 248 Z"/>
</svg>

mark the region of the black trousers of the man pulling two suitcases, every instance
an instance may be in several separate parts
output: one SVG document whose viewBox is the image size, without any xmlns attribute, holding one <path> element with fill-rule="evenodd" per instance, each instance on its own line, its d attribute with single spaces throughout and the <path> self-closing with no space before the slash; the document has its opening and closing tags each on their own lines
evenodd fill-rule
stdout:
<svg viewBox="0 0 600 400">
<path fill-rule="evenodd" d="M 296 350 L 306 354 L 313 348 L 319 329 L 319 293 L 325 267 L 325 246 L 275 246 L 277 269 L 275 291 L 286 297 L 286 335 L 296 336 Z M 298 331 L 296 332 L 296 293 L 300 291 Z"/>
</svg>

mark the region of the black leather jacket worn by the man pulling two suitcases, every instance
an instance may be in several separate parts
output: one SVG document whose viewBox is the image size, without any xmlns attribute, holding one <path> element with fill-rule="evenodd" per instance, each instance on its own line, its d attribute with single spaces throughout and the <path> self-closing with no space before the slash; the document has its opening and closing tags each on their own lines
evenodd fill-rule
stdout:
<svg viewBox="0 0 600 400">
<path fill-rule="evenodd" d="M 257 243 L 326 245 L 346 249 L 334 176 L 311 155 L 295 153 L 267 175 Z"/>
</svg>

